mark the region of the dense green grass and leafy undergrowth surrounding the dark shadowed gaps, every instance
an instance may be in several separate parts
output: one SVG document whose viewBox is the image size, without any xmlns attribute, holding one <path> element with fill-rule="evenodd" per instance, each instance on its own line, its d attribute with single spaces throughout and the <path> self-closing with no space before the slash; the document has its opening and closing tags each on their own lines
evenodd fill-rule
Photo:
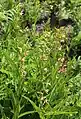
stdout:
<svg viewBox="0 0 81 119">
<path fill-rule="evenodd" d="M 81 118 L 81 60 L 65 57 L 65 51 L 69 52 L 67 28 L 51 30 L 48 19 L 42 32 L 36 31 L 41 11 L 50 14 L 48 4 L 52 2 L 0 1 L 1 119 Z M 74 15 L 75 3 L 71 2 L 69 9 Z M 79 10 L 75 9 L 76 20 L 80 19 Z M 32 23 L 30 29 L 25 23 L 28 20 Z M 78 23 L 79 34 L 76 27 L 72 31 L 72 46 L 80 43 Z M 66 44 L 61 46 L 61 40 Z"/>
</svg>

